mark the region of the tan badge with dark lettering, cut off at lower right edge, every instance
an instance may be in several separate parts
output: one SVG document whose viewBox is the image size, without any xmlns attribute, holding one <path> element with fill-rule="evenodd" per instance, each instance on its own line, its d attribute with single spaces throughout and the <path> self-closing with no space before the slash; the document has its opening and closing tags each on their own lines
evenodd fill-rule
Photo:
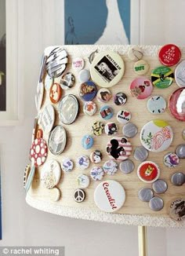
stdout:
<svg viewBox="0 0 185 256">
<path fill-rule="evenodd" d="M 185 199 L 175 199 L 170 203 L 169 216 L 176 221 L 185 220 Z"/>
</svg>

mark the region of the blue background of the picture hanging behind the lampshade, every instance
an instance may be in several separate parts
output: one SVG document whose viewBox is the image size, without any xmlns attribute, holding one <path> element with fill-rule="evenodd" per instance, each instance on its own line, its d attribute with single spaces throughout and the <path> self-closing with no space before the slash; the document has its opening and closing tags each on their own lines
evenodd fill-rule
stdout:
<svg viewBox="0 0 185 256">
<path fill-rule="evenodd" d="M 106 0 L 66 0 L 64 8 L 65 44 L 94 44 L 103 35 L 108 14 Z M 118 9 L 130 39 L 130 0 L 118 0 Z"/>
</svg>

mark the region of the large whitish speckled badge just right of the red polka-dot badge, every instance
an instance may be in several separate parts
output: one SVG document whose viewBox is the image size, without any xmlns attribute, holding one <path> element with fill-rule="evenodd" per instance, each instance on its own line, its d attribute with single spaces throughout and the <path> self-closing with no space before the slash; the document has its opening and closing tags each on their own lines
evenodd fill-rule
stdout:
<svg viewBox="0 0 185 256">
<path fill-rule="evenodd" d="M 56 160 L 50 160 L 43 166 L 41 173 L 42 185 L 45 188 L 51 189 L 60 181 L 61 170 L 60 164 Z"/>
</svg>

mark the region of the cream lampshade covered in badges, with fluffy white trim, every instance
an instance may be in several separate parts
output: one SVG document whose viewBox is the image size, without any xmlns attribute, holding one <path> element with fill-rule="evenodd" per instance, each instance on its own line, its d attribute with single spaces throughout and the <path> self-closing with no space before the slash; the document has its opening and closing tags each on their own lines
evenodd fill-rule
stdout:
<svg viewBox="0 0 185 256">
<path fill-rule="evenodd" d="M 160 54 L 161 46 L 45 49 L 24 174 L 31 207 L 93 221 L 185 226 L 185 89 L 174 78 L 183 78 L 184 66 L 178 69 L 180 56 L 170 65 L 174 46 Z"/>
</svg>

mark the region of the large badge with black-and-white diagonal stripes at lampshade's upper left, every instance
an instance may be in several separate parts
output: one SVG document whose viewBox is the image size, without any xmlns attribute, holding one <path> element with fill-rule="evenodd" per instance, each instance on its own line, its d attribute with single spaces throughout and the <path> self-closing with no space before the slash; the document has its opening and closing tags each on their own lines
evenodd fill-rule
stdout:
<svg viewBox="0 0 185 256">
<path fill-rule="evenodd" d="M 46 61 L 46 71 L 52 78 L 59 77 L 67 67 L 67 51 L 61 47 L 54 48 Z"/>
</svg>

